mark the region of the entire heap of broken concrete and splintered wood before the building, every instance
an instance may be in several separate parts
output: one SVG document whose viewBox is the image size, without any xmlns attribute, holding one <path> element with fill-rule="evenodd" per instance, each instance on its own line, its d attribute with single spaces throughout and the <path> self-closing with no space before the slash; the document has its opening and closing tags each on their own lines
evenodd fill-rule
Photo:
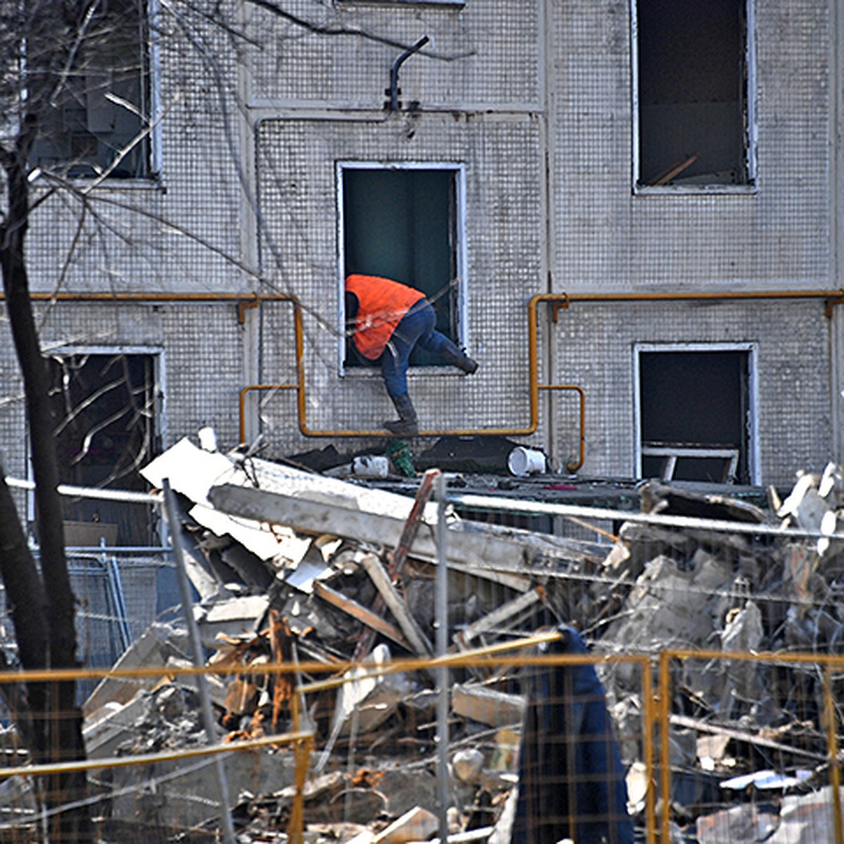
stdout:
<svg viewBox="0 0 844 844">
<path fill-rule="evenodd" d="M 436 835 L 435 679 L 425 671 L 373 678 L 353 668 L 343 678 L 349 682 L 323 682 L 349 661 L 387 664 L 432 654 L 434 473 L 419 479 L 412 500 L 239 452 L 205 451 L 187 439 L 142 473 L 154 488 L 169 484 L 179 502 L 179 523 L 170 529 L 181 535 L 198 595 L 194 616 L 208 663 L 228 672 L 211 680 L 221 738 L 297 725 L 314 731 L 317 752 L 305 793 L 312 836 L 402 844 Z M 640 493 L 644 514 L 675 521 L 631 517 L 609 542 L 604 530 L 587 541 L 467 522 L 448 511 L 451 650 L 561 623 L 583 630 L 600 653 L 840 647 L 839 468 L 803 474 L 784 501 L 770 490 L 767 510 L 676 485 L 650 483 Z M 189 663 L 176 615 L 153 625 L 117 667 Z M 282 663 L 297 670 L 262 671 Z M 820 789 L 827 776 L 820 684 L 811 666 L 789 674 L 796 684 L 783 683 L 777 670 L 714 660 L 684 660 L 674 669 L 678 840 L 691 829 L 700 841 L 723 840 L 724 830 L 733 840 L 761 840 L 743 837 L 755 825 L 774 832 L 768 841 L 802 841 L 799 830 L 813 829 L 806 820 L 812 807 L 828 808 Z M 641 676 L 627 663 L 600 671 L 628 771 L 630 812 L 641 825 L 647 788 Z M 519 675 L 490 663 L 452 670 L 452 679 L 450 828 L 458 841 L 507 841 L 526 709 Z M 195 694 L 192 682 L 172 677 L 106 679 L 84 709 L 89 755 L 201 744 Z M 121 795 L 109 805 L 111 830 L 133 824 L 133 840 L 140 840 L 140 818 L 153 838 L 161 830 L 213 825 L 208 770 L 207 760 L 178 779 L 175 762 L 115 769 L 104 783 Z M 284 748 L 226 755 L 243 841 L 284 830 L 293 771 Z M 766 787 L 776 806 L 763 813 L 763 823 L 750 797 Z M 793 837 L 782 837 L 786 832 Z"/>
</svg>

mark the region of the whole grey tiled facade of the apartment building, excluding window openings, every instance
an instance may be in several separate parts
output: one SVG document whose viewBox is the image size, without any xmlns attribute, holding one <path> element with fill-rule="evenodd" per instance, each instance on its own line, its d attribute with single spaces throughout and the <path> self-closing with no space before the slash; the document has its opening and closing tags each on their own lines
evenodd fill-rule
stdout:
<svg viewBox="0 0 844 844">
<path fill-rule="evenodd" d="M 830 4 L 754 4 L 755 189 L 665 195 L 632 190 L 627 0 L 290 0 L 284 9 L 308 25 L 252 4 L 225 9 L 228 30 L 165 19 L 160 180 L 39 208 L 28 252 L 34 289 L 293 293 L 306 311 L 306 422 L 337 430 L 377 427 L 391 411 L 377 376 L 339 371 L 339 160 L 465 171 L 468 341 L 481 370 L 414 372 L 423 427 L 527 424 L 535 293 L 840 286 L 830 243 Z M 399 78 L 401 100 L 419 111 L 388 115 L 392 62 L 422 35 L 430 45 Z M 235 311 L 60 303 L 43 336 L 160 345 L 169 441 L 211 423 L 230 446 L 240 389 L 295 380 L 289 306 L 247 312 L 242 326 Z M 632 471 L 637 342 L 758 345 L 764 482 L 788 484 L 836 447 L 836 361 L 819 301 L 584 305 L 556 324 L 548 312 L 540 382 L 587 392 L 584 473 Z M 21 473 L 23 405 L 5 328 L 0 343 L 0 448 Z M 292 392 L 262 393 L 259 403 L 254 425 L 271 454 L 326 443 L 300 436 Z M 541 404 L 533 440 L 562 465 L 577 451 L 576 401 L 555 399 L 550 417 Z"/>
</svg>

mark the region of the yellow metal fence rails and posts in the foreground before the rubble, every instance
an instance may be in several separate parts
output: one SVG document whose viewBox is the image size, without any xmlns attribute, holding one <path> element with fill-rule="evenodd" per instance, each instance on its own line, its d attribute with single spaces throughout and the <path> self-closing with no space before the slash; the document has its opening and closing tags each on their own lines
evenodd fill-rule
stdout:
<svg viewBox="0 0 844 844">
<path fill-rule="evenodd" d="M 672 762 L 670 755 L 670 741 L 673 716 L 672 714 L 672 669 L 678 663 L 688 663 L 697 660 L 701 663 L 750 662 L 756 665 L 774 664 L 778 668 L 793 669 L 795 667 L 814 668 L 821 679 L 820 693 L 822 695 L 821 722 L 817 725 L 817 736 L 823 736 L 826 744 L 825 755 L 811 754 L 813 758 L 825 760 L 829 769 L 829 782 L 832 787 L 832 813 L 836 829 L 836 844 L 844 844 L 844 827 L 842 827 L 841 807 L 841 751 L 840 724 L 836 711 L 836 699 L 833 689 L 833 672 L 844 670 L 844 655 L 824 655 L 815 653 L 788 652 L 721 652 L 702 650 L 666 650 L 658 653 L 637 654 L 544 654 L 526 652 L 542 642 L 552 641 L 555 633 L 528 636 L 523 639 L 504 642 L 490 647 L 479 648 L 467 652 L 452 653 L 446 657 L 437 658 L 408 658 L 398 659 L 390 663 L 381 663 L 377 668 L 372 667 L 360 674 L 360 669 L 369 666 L 365 663 L 296 663 L 294 664 L 260 664 L 244 668 L 242 665 L 207 666 L 203 668 L 154 666 L 133 669 L 59 669 L 47 671 L 21 671 L 0 673 L 0 685 L 11 683 L 57 682 L 68 679 L 93 679 L 108 677 L 109 679 L 160 679 L 163 676 L 191 677 L 200 674 L 214 674 L 216 676 L 243 674 L 251 675 L 274 674 L 329 674 L 325 680 L 299 683 L 295 687 L 294 700 L 306 695 L 325 693 L 336 689 L 349 678 L 344 673 L 356 667 L 358 673 L 354 680 L 362 677 L 367 679 L 395 673 L 411 673 L 416 671 L 430 672 L 443 666 L 447 668 L 528 668 L 549 666 L 573 666 L 592 664 L 603 666 L 609 671 L 612 666 L 627 663 L 638 667 L 639 684 L 641 690 L 641 762 L 645 776 L 650 786 L 645 795 L 643 811 L 644 833 L 648 844 L 656 841 L 670 841 L 671 806 L 672 806 Z M 654 684 L 654 677 L 656 683 Z M 840 681 L 840 678 L 839 678 Z M 219 753 L 235 753 L 249 749 L 277 748 L 284 744 L 292 744 L 295 751 L 295 769 L 293 781 L 295 785 L 295 800 L 289 818 L 288 833 L 291 841 L 301 841 L 305 820 L 303 789 L 310 770 L 311 752 L 315 747 L 313 733 L 301 731 L 298 727 L 298 711 L 294 712 L 294 730 L 289 733 L 264 736 L 248 741 L 237 741 L 232 744 L 218 744 L 214 746 L 199 746 L 185 750 L 159 754 L 144 754 L 133 756 L 119 756 L 91 760 L 62 761 L 55 765 L 27 765 L 0 769 L 0 780 L 12 776 L 37 776 L 57 771 L 89 771 L 110 767 L 125 767 L 144 765 L 160 760 L 180 760 L 194 756 L 214 755 Z M 713 727 L 717 731 L 717 726 Z M 658 754 L 657 754 L 658 744 Z M 808 751 L 807 751 L 808 753 Z M 658 759 L 657 759 L 658 755 Z M 728 801 L 725 799 L 725 804 Z"/>
</svg>

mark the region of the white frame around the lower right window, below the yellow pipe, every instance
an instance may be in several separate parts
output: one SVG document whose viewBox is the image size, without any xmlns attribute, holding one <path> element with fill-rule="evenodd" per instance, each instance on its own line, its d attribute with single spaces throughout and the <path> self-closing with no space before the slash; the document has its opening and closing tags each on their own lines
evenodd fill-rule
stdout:
<svg viewBox="0 0 844 844">
<path fill-rule="evenodd" d="M 634 477 L 641 478 L 641 354 L 645 352 L 746 352 L 748 354 L 747 463 L 750 484 L 761 483 L 759 441 L 759 344 L 756 343 L 636 343 L 633 345 Z"/>
</svg>

